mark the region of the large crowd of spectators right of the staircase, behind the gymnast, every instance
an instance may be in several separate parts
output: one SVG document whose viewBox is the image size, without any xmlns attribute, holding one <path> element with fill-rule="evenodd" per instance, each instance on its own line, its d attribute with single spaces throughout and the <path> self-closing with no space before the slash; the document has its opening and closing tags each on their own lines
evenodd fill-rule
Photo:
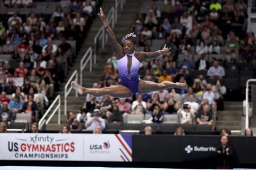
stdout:
<svg viewBox="0 0 256 170">
<path fill-rule="evenodd" d="M 122 115 L 129 114 L 151 115 L 145 122 L 161 123 L 164 115 L 178 114 L 179 123 L 214 125 L 217 110 L 224 109 L 225 71 L 239 69 L 242 63 L 255 64 L 255 38 L 252 32 L 246 32 L 245 1 L 206 0 L 198 4 L 167 0 L 162 1 L 159 9 L 155 1 L 144 1 L 144 4 L 147 2 L 152 2 L 151 9 L 147 14 L 139 13 L 127 33 L 135 32 L 138 45 L 145 52 L 151 52 L 155 40 L 163 40 L 157 48 L 166 44 L 172 50 L 155 60 L 143 61 L 139 70 L 141 79 L 185 82 L 188 89 L 164 89 L 130 98 L 87 95 L 78 114 L 83 116 L 77 117 L 84 130 L 93 131 L 90 125 L 95 109 L 99 109 L 105 123 L 123 123 Z M 123 41 L 124 38 L 120 43 Z M 209 58 L 210 54 L 215 56 Z M 190 75 L 193 70 L 203 70 L 206 74 Z M 119 83 L 117 59 L 112 53 L 102 78 L 93 88 Z M 99 120 L 95 123 L 100 125 Z M 101 122 L 101 125 L 103 130 L 105 124 Z"/>
</svg>

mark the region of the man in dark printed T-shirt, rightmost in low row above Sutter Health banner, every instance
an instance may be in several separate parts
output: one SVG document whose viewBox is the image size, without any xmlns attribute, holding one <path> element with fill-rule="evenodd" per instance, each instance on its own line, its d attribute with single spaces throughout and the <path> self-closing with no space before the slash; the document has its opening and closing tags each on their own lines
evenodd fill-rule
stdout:
<svg viewBox="0 0 256 170">
<path fill-rule="evenodd" d="M 214 123 L 213 114 L 210 112 L 211 107 L 208 104 L 203 106 L 203 112 L 199 112 L 196 115 L 196 122 L 199 125 L 212 125 Z"/>
</svg>

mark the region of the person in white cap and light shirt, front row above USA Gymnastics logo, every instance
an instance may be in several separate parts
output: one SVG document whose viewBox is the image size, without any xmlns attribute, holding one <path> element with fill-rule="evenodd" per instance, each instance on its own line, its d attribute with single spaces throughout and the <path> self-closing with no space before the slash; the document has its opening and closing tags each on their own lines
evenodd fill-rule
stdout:
<svg viewBox="0 0 256 170">
<path fill-rule="evenodd" d="M 93 131 L 96 126 L 100 126 L 102 130 L 106 127 L 105 120 L 100 117 L 99 109 L 93 110 L 93 116 L 88 118 L 86 122 L 86 131 Z"/>
</svg>

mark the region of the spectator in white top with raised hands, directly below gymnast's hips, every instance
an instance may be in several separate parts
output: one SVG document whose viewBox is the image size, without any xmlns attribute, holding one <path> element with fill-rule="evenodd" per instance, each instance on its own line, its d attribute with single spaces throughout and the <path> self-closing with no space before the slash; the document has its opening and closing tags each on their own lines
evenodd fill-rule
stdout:
<svg viewBox="0 0 256 170">
<path fill-rule="evenodd" d="M 147 103 L 142 101 L 142 94 L 138 94 L 136 99 L 132 103 L 132 114 L 144 114 L 147 109 Z"/>
</svg>

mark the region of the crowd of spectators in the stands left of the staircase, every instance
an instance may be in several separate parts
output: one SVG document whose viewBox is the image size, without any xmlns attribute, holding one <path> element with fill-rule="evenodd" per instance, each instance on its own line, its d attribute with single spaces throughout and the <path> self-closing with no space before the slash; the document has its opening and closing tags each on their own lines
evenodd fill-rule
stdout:
<svg viewBox="0 0 256 170">
<path fill-rule="evenodd" d="M 97 8 L 96 1 L 75 0 L 57 5 L 52 14 L 39 14 L 31 10 L 35 4 L 0 2 L 0 10 L 16 9 L 0 17 L 0 56 L 10 57 L 0 57 L 0 122 L 7 126 L 18 113 L 32 115 L 32 122 L 44 114 L 72 67 Z M 31 13 L 19 13 L 22 8 Z"/>
</svg>

